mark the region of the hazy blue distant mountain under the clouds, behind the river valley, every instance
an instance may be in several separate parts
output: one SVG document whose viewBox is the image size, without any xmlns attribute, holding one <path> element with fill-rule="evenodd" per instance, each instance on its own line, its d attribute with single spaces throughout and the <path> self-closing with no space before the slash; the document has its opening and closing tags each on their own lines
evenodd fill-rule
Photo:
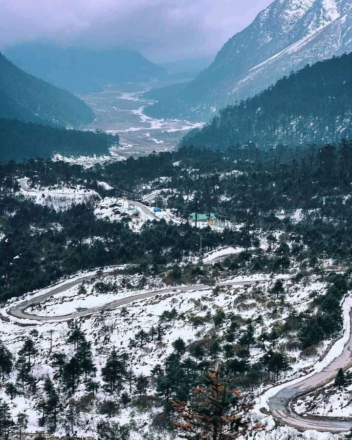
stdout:
<svg viewBox="0 0 352 440">
<path fill-rule="evenodd" d="M 166 70 L 139 52 L 119 47 L 100 51 L 39 42 L 18 44 L 6 55 L 25 71 L 72 93 L 100 91 L 110 82 L 164 78 Z"/>
</svg>

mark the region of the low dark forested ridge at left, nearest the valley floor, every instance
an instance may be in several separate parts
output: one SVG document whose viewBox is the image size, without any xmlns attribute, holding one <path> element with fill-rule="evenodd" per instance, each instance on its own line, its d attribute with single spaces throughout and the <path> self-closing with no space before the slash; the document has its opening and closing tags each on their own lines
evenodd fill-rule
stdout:
<svg viewBox="0 0 352 440">
<path fill-rule="evenodd" d="M 66 155 L 108 154 L 118 136 L 103 132 L 66 130 L 0 118 L 0 162 L 30 157 L 50 158 L 54 153 Z"/>
</svg>

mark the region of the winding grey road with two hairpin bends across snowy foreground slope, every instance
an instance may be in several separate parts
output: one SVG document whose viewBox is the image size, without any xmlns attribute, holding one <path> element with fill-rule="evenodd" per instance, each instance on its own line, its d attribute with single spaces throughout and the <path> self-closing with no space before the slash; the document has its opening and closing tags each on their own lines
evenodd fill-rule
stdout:
<svg viewBox="0 0 352 440">
<path fill-rule="evenodd" d="M 109 272 L 108 272 L 109 273 Z M 194 290 L 205 290 L 212 288 L 207 285 L 192 285 L 192 286 L 179 286 L 179 287 L 170 287 L 163 288 L 159 290 L 153 290 L 145 293 L 137 293 L 135 295 L 129 296 L 127 298 L 119 299 L 112 301 L 106 305 L 88 308 L 84 310 L 79 310 L 73 313 L 69 313 L 67 315 L 61 316 L 40 316 L 27 312 L 27 309 L 40 304 L 45 299 L 57 295 L 66 291 L 67 289 L 80 285 L 83 281 L 89 281 L 92 278 L 96 277 L 94 275 L 86 275 L 81 278 L 77 278 L 72 281 L 67 281 L 62 285 L 53 286 L 48 292 L 43 295 L 39 295 L 32 299 L 23 301 L 22 303 L 16 305 L 13 308 L 10 308 L 7 312 L 9 315 L 18 318 L 18 319 L 27 319 L 27 320 L 35 320 L 35 321 L 65 321 L 68 319 L 73 319 L 79 316 L 87 316 L 92 313 L 112 310 L 122 305 L 132 304 L 136 301 L 140 301 L 147 298 L 157 297 L 158 295 L 163 295 L 167 293 L 173 293 L 177 291 L 183 292 L 191 292 Z M 236 282 L 225 282 L 218 283 L 217 286 L 243 286 L 243 285 L 251 285 L 257 282 L 268 281 L 267 279 L 258 279 L 258 280 L 250 280 L 250 281 L 236 281 Z M 335 419 L 328 417 L 302 417 L 296 414 L 292 408 L 292 401 L 309 392 L 319 388 L 328 382 L 330 382 L 337 374 L 339 368 L 350 368 L 352 367 L 352 312 L 350 311 L 350 317 L 348 325 L 345 328 L 345 332 L 348 333 L 349 339 L 344 345 L 343 351 L 337 357 L 335 357 L 332 362 L 325 368 L 323 368 L 320 372 L 316 372 L 312 375 L 308 375 L 306 378 L 303 378 L 297 383 L 297 379 L 294 379 L 291 382 L 287 382 L 284 388 L 279 389 L 276 395 L 270 397 L 268 399 L 268 406 L 270 409 L 270 414 L 279 420 L 282 424 L 287 424 L 293 427 L 296 427 L 301 430 L 306 429 L 315 429 L 317 431 L 329 431 L 329 432 L 344 432 L 350 430 L 352 427 L 352 418 L 351 419 Z M 346 334 L 345 333 L 345 334 Z"/>
</svg>

